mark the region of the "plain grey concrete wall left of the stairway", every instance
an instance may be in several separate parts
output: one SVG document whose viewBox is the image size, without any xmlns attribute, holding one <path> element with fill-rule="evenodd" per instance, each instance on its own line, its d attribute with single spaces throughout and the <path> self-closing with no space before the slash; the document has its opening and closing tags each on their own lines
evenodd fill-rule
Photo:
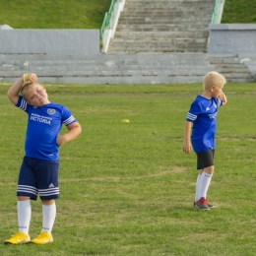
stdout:
<svg viewBox="0 0 256 256">
<path fill-rule="evenodd" d="M 99 52 L 99 30 L 0 30 L 0 53 Z"/>
</svg>

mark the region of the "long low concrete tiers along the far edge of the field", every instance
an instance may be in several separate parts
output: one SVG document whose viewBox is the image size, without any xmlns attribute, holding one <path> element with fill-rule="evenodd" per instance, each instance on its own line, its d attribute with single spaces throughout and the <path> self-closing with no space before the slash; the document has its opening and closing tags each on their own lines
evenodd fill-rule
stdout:
<svg viewBox="0 0 256 256">
<path fill-rule="evenodd" d="M 0 54 L 0 82 L 14 83 L 24 73 L 36 73 L 40 83 L 172 84 L 202 83 L 209 71 L 227 82 L 252 82 L 244 64 L 233 56 L 205 53 L 156 54 Z"/>
</svg>

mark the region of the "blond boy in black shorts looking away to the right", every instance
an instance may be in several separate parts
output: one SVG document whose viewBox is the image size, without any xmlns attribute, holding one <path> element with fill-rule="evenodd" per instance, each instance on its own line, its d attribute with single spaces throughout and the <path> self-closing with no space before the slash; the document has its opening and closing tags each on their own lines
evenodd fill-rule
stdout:
<svg viewBox="0 0 256 256">
<path fill-rule="evenodd" d="M 208 203 L 207 191 L 215 169 L 217 113 L 219 106 L 227 102 L 223 92 L 225 83 L 224 76 L 218 72 L 206 74 L 203 80 L 203 94 L 192 102 L 185 122 L 183 152 L 190 154 L 193 146 L 197 155 L 199 175 L 194 207 L 200 210 L 210 210 L 215 207 Z"/>
</svg>

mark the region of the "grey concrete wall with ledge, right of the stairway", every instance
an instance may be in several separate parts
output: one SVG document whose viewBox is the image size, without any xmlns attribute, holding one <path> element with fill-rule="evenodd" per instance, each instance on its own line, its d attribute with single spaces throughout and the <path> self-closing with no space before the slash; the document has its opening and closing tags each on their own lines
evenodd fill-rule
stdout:
<svg viewBox="0 0 256 256">
<path fill-rule="evenodd" d="M 210 25 L 208 53 L 229 54 L 256 52 L 256 25 L 222 24 Z"/>
</svg>

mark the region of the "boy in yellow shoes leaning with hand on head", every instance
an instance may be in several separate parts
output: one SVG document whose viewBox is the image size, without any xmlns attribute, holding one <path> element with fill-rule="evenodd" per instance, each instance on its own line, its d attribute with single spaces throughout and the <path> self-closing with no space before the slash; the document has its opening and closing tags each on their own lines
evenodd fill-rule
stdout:
<svg viewBox="0 0 256 256">
<path fill-rule="evenodd" d="M 72 113 L 64 105 L 51 102 L 45 88 L 36 82 L 35 74 L 25 74 L 7 93 L 15 106 L 27 112 L 28 126 L 17 188 L 19 231 L 5 240 L 6 244 L 53 241 L 51 229 L 56 216 L 55 199 L 59 198 L 59 147 L 76 139 L 82 131 Z M 62 124 L 68 131 L 59 135 Z M 36 200 L 38 194 L 42 203 L 42 228 L 31 240 L 30 200 Z"/>
</svg>

